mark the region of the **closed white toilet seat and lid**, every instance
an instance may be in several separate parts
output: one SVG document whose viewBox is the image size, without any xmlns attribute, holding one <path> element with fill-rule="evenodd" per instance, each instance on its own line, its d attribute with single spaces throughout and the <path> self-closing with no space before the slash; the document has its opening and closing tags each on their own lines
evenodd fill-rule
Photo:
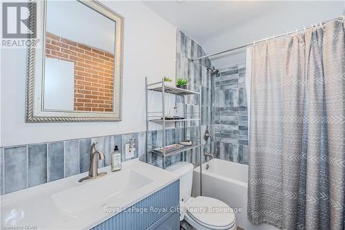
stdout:
<svg viewBox="0 0 345 230">
<path fill-rule="evenodd" d="M 189 198 L 186 202 L 186 215 L 187 220 L 194 220 L 206 229 L 226 230 L 236 224 L 233 209 L 220 200 L 205 196 Z"/>
</svg>

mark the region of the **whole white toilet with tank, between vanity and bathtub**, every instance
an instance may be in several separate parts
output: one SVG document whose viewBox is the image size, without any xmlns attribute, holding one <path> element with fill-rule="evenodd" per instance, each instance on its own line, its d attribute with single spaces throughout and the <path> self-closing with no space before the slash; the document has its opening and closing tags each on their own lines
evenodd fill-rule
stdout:
<svg viewBox="0 0 345 230">
<path fill-rule="evenodd" d="M 206 196 L 197 198 L 190 196 L 192 194 L 193 164 L 177 162 L 168 166 L 166 170 L 180 176 L 180 221 L 186 220 L 197 230 L 236 230 L 235 213 L 228 204 Z"/>
</svg>

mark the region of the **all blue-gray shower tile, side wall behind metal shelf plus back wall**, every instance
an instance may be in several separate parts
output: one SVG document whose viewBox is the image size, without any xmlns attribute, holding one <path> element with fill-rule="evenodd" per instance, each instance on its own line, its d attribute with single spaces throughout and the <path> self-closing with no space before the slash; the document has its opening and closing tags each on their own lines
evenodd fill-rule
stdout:
<svg viewBox="0 0 345 230">
<path fill-rule="evenodd" d="M 177 31 L 176 78 L 188 79 L 188 89 L 201 89 L 201 140 L 199 122 L 186 122 L 186 128 L 177 122 L 177 128 L 167 137 L 167 144 L 179 143 L 184 137 L 201 142 L 201 151 L 210 152 L 216 158 L 248 164 L 248 111 L 246 98 L 245 64 L 219 68 L 219 73 L 210 75 L 213 68 L 209 59 L 190 61 L 206 55 L 201 46 L 184 32 Z M 177 109 L 184 108 L 189 115 L 199 116 L 199 97 L 196 95 L 176 97 Z M 214 134 L 213 140 L 203 139 L 206 128 Z M 149 133 L 148 145 L 162 145 L 162 131 Z M 152 135 L 152 136 L 151 136 Z M 162 167 L 161 155 L 149 153 L 141 160 Z M 202 160 L 208 160 L 202 157 Z M 166 166 L 178 161 L 199 165 L 199 148 L 167 157 Z"/>
</svg>

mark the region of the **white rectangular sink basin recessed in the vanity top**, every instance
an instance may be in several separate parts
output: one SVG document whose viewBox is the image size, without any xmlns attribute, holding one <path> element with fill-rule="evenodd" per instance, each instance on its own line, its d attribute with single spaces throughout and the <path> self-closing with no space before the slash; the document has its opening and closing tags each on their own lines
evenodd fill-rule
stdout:
<svg viewBox="0 0 345 230">
<path fill-rule="evenodd" d="M 153 180 L 136 171 L 120 171 L 55 193 L 52 195 L 52 201 L 63 214 L 77 218 L 79 213 L 87 209 L 103 207 L 110 201 L 114 202 L 130 195 L 150 182 Z"/>
</svg>

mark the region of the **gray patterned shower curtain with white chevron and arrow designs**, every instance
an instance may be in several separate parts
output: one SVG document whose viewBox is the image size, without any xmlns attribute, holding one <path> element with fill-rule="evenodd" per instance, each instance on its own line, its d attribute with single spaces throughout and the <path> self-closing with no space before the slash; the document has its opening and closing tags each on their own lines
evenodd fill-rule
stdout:
<svg viewBox="0 0 345 230">
<path fill-rule="evenodd" d="M 345 35 L 331 21 L 252 48 L 248 218 L 345 229 Z"/>
</svg>

